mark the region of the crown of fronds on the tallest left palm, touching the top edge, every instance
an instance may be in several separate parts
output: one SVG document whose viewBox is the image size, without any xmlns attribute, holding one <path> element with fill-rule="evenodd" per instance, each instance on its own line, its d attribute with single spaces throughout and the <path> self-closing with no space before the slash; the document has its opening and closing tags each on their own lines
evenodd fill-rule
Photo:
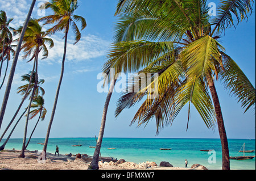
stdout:
<svg viewBox="0 0 256 181">
<path fill-rule="evenodd" d="M 74 14 L 77 7 L 77 1 L 75 0 L 52 0 L 51 2 L 46 2 L 40 8 L 50 8 L 54 14 L 40 18 L 39 21 L 43 20 L 45 21 L 45 24 L 56 24 L 52 28 L 49 28 L 47 31 L 49 34 L 54 34 L 57 31 L 63 30 L 68 32 L 69 27 L 71 26 L 76 35 L 74 43 L 76 44 L 81 39 L 81 32 L 79 31 L 76 22 L 81 23 L 81 30 L 84 30 L 86 27 L 85 18 Z"/>
</svg>

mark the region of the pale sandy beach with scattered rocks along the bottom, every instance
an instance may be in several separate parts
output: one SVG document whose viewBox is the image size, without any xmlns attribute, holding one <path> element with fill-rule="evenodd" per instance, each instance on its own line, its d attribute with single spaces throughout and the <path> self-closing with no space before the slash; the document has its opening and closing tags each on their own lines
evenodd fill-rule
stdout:
<svg viewBox="0 0 256 181">
<path fill-rule="evenodd" d="M 18 158 L 19 150 L 3 150 L 0 151 L 0 170 L 87 170 L 90 163 L 76 155 L 67 157 L 67 155 L 59 155 L 59 157 L 51 153 L 47 153 L 46 161 L 39 161 L 39 154 L 35 151 L 26 151 L 25 158 Z M 155 162 L 99 162 L 100 170 L 203 170 L 205 167 L 199 166 L 191 169 L 182 167 L 162 167 L 156 165 Z"/>
</svg>

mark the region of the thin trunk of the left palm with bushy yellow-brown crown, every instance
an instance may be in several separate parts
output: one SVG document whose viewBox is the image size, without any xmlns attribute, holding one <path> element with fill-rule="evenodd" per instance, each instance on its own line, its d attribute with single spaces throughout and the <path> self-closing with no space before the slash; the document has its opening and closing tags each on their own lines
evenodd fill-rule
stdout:
<svg viewBox="0 0 256 181">
<path fill-rule="evenodd" d="M 36 49 L 36 57 L 35 57 L 35 61 L 36 61 L 36 66 L 35 66 L 35 84 L 34 84 L 34 87 L 33 87 L 32 95 L 30 96 L 30 103 L 28 104 L 27 119 L 26 119 L 25 129 L 24 129 L 24 137 L 23 137 L 23 143 L 22 143 L 22 150 L 21 150 L 21 153 L 19 155 L 19 158 L 25 158 L 25 146 L 26 146 L 26 139 L 27 139 L 28 119 L 30 117 L 30 108 L 31 108 L 32 101 L 34 99 L 36 86 L 38 84 L 38 54 L 39 54 L 39 46 Z M 31 77 L 32 77 L 32 75 L 31 75 Z"/>
</svg>

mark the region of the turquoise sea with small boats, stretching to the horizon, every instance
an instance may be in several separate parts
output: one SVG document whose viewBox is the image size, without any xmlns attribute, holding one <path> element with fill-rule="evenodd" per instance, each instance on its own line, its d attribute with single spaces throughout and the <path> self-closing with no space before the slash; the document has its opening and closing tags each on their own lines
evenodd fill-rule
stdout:
<svg viewBox="0 0 256 181">
<path fill-rule="evenodd" d="M 1 142 L 1 145 L 5 141 Z M 28 150 L 42 150 L 44 138 L 32 138 Z M 242 155 L 238 153 L 245 142 L 246 150 L 255 150 L 255 139 L 229 139 L 230 156 Z M 55 153 L 56 145 L 59 146 L 60 154 L 88 154 L 93 155 L 96 145 L 95 138 L 49 138 L 47 152 Z M 74 147 L 72 145 L 82 145 Z M 22 139 L 10 139 L 5 149 L 22 148 Z M 108 148 L 115 148 L 109 150 Z M 171 150 L 160 150 L 160 148 L 171 148 Z M 200 151 L 201 149 L 213 149 L 212 152 Z M 104 138 L 102 141 L 101 155 L 104 157 L 123 158 L 125 161 L 142 163 L 146 161 L 170 162 L 174 167 L 185 167 L 185 159 L 188 160 L 188 167 L 194 163 L 204 165 L 210 170 L 221 169 L 222 155 L 220 139 L 201 138 Z M 245 155 L 255 155 L 245 153 Z M 231 169 L 255 170 L 255 158 L 247 160 L 230 160 Z"/>
</svg>

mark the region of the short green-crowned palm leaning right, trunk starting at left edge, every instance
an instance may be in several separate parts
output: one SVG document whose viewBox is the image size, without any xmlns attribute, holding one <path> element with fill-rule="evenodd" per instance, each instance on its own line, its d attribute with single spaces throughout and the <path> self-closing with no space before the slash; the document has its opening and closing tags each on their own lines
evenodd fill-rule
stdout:
<svg viewBox="0 0 256 181">
<path fill-rule="evenodd" d="M 20 108 L 22 107 L 22 104 L 23 104 L 24 100 L 27 98 L 28 95 L 31 95 L 31 92 L 34 89 L 34 87 L 35 87 L 35 96 L 39 96 L 39 94 L 41 94 L 43 96 L 44 93 L 45 93 L 45 91 L 42 88 L 42 86 L 40 86 L 40 85 L 42 85 L 44 83 L 44 79 L 39 79 L 37 85 L 35 86 L 36 73 L 34 71 L 32 76 L 31 76 L 31 74 L 32 73 L 30 71 L 30 73 L 24 74 L 24 75 L 21 76 L 22 77 L 21 81 L 26 81 L 28 83 L 23 85 L 23 86 L 18 87 L 17 93 L 20 94 L 20 95 L 24 95 L 24 96 L 22 98 L 22 102 L 20 103 L 18 110 L 15 112 L 15 115 L 11 119 L 10 123 L 7 125 L 5 131 L 2 133 L 2 136 L 0 137 L 0 141 L 2 140 L 3 136 L 5 136 L 5 133 L 8 131 L 8 129 L 10 128 L 11 124 L 15 120 L 15 117 L 18 114 Z"/>
</svg>

